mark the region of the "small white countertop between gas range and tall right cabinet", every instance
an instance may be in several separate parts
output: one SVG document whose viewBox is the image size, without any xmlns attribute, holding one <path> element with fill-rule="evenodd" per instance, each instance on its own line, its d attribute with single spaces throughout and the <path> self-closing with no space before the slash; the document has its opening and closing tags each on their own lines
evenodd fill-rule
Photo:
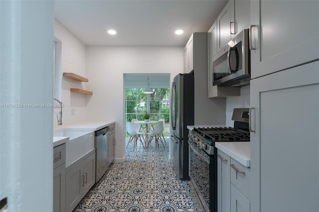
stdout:
<svg viewBox="0 0 319 212">
<path fill-rule="evenodd" d="M 246 167 L 250 167 L 250 142 L 215 142 L 215 147 Z"/>
</svg>

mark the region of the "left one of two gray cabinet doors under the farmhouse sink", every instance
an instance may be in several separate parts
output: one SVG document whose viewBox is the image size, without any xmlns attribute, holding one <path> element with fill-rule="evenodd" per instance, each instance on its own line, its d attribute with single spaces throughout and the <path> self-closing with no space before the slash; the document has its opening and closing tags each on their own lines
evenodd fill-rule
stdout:
<svg viewBox="0 0 319 212">
<path fill-rule="evenodd" d="M 72 212 L 82 199 L 82 188 L 84 185 L 84 175 L 82 174 L 83 163 L 72 168 L 65 175 L 65 211 Z"/>
</svg>

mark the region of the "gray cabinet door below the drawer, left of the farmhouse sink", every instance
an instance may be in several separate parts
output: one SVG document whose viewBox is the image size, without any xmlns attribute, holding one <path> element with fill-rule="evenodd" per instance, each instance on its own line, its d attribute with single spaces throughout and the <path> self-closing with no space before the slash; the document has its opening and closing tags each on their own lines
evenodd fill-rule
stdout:
<svg viewBox="0 0 319 212">
<path fill-rule="evenodd" d="M 53 169 L 53 212 L 65 211 L 65 163 Z"/>
</svg>

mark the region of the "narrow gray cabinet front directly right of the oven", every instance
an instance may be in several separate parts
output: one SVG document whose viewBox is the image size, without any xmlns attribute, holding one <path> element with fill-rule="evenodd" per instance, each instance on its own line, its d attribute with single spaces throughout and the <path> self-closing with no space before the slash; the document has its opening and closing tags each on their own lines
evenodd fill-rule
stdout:
<svg viewBox="0 0 319 212">
<path fill-rule="evenodd" d="M 217 212 L 230 211 L 230 157 L 217 152 Z"/>
</svg>

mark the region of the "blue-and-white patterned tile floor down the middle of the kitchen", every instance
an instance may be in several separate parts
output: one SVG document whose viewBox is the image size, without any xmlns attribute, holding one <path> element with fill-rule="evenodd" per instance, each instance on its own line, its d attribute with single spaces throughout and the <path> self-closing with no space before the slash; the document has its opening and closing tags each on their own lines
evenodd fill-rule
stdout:
<svg viewBox="0 0 319 212">
<path fill-rule="evenodd" d="M 110 165 L 73 212 L 197 212 L 189 181 L 178 179 L 169 163 L 167 144 L 135 151 L 129 145 L 126 156 Z"/>
</svg>

